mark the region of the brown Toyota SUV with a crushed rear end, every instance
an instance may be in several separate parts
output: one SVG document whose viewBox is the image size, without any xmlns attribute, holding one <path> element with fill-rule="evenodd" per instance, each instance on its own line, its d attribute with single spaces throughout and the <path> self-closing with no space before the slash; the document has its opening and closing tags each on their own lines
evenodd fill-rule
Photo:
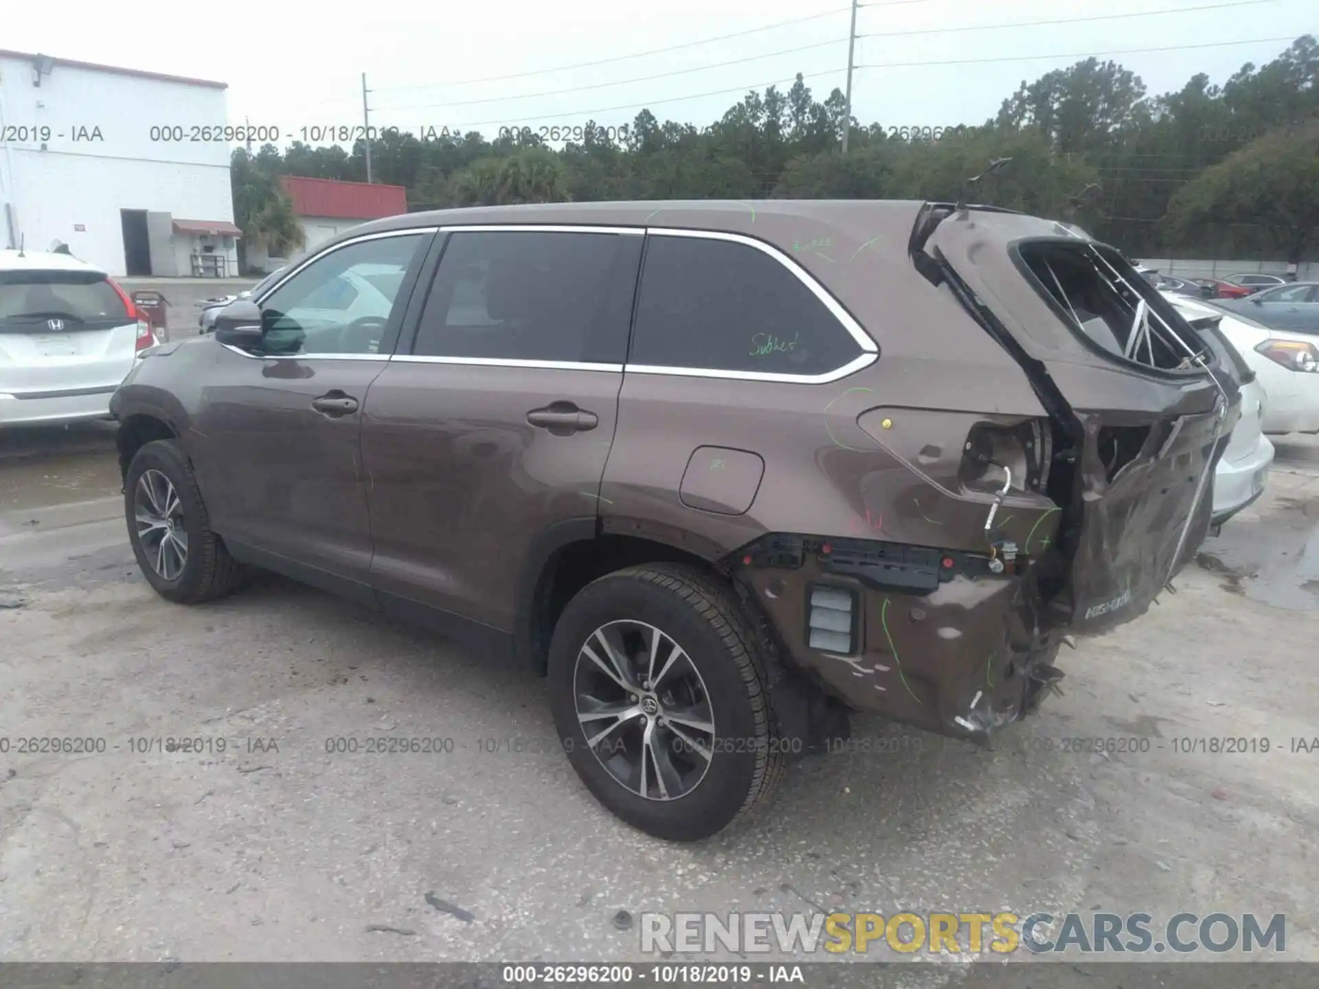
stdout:
<svg viewBox="0 0 1319 989">
<path fill-rule="evenodd" d="M 112 411 L 162 597 L 268 568 L 516 657 L 691 840 L 849 711 L 984 741 L 1142 614 L 1239 415 L 1202 330 L 993 207 L 483 207 L 340 235 Z"/>
</svg>

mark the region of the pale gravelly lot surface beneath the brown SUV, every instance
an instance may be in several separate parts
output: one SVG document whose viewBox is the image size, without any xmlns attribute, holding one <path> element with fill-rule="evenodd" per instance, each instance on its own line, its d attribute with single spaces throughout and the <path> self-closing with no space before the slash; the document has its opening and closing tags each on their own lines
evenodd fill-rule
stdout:
<svg viewBox="0 0 1319 989">
<path fill-rule="evenodd" d="M 598 806 L 517 670 L 273 576 L 160 600 L 112 438 L 0 447 L 0 957 L 641 960 L 619 910 L 1103 909 L 1282 913 L 1286 956 L 1319 961 L 1319 750 L 1293 742 L 1319 736 L 1312 436 L 1177 595 L 1064 650 L 1063 696 L 995 750 L 859 719 L 695 845 Z M 1149 750 L 1070 750 L 1108 737 Z M 1224 737 L 1270 752 L 1178 741 Z"/>
</svg>

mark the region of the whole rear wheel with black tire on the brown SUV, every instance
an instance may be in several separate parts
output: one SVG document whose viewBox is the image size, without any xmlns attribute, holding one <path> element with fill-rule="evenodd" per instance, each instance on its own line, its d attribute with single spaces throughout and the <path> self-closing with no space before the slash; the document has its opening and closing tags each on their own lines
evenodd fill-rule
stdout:
<svg viewBox="0 0 1319 989">
<path fill-rule="evenodd" d="M 768 802 L 782 775 L 765 658 L 732 589 L 699 567 L 629 567 L 565 608 L 550 642 L 554 724 L 600 803 L 696 841 Z"/>
</svg>

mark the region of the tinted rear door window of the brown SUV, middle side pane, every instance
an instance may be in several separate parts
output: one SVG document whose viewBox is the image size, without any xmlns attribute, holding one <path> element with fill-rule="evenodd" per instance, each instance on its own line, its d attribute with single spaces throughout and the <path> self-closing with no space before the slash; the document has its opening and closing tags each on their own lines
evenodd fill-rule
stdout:
<svg viewBox="0 0 1319 989">
<path fill-rule="evenodd" d="M 632 233 L 456 231 L 413 353 L 623 364 L 641 241 Z"/>
</svg>

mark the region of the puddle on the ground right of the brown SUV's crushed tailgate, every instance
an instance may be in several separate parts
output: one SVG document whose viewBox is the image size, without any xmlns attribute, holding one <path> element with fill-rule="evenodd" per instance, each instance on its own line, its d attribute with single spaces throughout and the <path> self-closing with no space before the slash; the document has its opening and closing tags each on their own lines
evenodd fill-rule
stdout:
<svg viewBox="0 0 1319 989">
<path fill-rule="evenodd" d="M 1195 562 L 1224 591 L 1270 608 L 1319 608 L 1319 498 L 1278 497 L 1269 518 L 1233 518 L 1200 546 Z"/>
</svg>

